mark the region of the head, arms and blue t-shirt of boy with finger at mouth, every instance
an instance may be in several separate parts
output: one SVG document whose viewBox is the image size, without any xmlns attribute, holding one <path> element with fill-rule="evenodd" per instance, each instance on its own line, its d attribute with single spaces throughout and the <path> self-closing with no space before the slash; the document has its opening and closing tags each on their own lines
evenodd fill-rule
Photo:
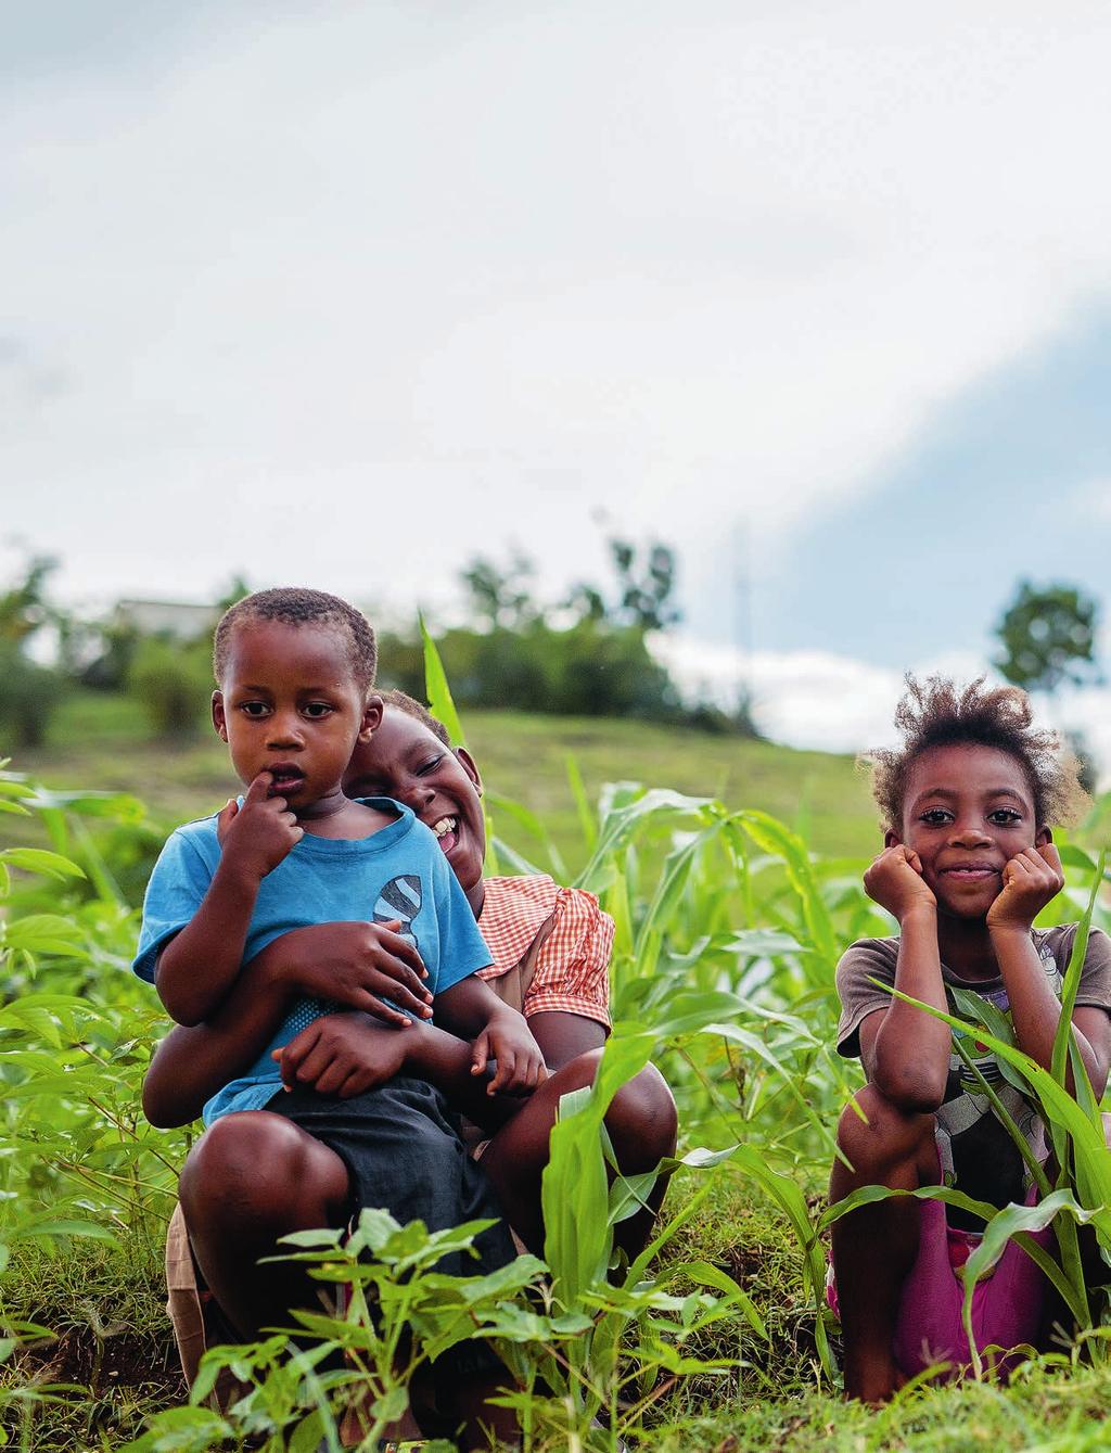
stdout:
<svg viewBox="0 0 1111 1453">
<path fill-rule="evenodd" d="M 212 722 L 247 785 L 215 817 L 179 828 L 147 888 L 135 972 L 182 1024 L 208 1019 L 241 965 L 317 923 L 370 918 L 376 956 L 286 1016 L 259 1062 L 205 1107 L 211 1123 L 261 1109 L 289 1040 L 343 1003 L 398 1029 L 433 1016 L 482 1037 L 492 1084 L 532 1090 L 543 1059 L 520 1014 L 472 978 L 489 962 L 437 840 L 386 799 L 341 786 L 356 742 L 382 721 L 370 696 L 376 651 L 360 612 L 322 591 L 270 590 L 225 613 L 213 642 Z M 511 1071 L 508 1067 L 513 1067 Z"/>
</svg>

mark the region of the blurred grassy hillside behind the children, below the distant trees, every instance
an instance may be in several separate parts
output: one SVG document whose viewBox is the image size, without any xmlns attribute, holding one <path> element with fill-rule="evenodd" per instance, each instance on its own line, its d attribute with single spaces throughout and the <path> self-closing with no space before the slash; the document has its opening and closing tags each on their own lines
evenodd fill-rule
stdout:
<svg viewBox="0 0 1111 1453">
<path fill-rule="evenodd" d="M 594 799 L 606 782 L 633 780 L 762 808 L 800 827 L 823 854 L 863 854 L 877 843 L 867 780 L 850 757 L 794 751 L 643 722 L 469 712 L 468 742 L 487 786 L 521 802 L 574 866 L 581 835 L 568 785 L 574 757 Z M 135 792 L 167 825 L 211 812 L 234 788 L 227 747 L 215 735 L 157 741 L 123 697 L 73 695 L 48 741 L 13 767 L 48 786 Z M 527 851 L 527 843 L 520 843 Z"/>
</svg>

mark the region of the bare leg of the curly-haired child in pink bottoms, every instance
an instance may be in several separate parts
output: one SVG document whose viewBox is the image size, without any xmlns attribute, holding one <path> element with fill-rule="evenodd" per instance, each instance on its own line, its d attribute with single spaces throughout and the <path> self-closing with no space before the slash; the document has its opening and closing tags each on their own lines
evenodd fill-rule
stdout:
<svg viewBox="0 0 1111 1453">
<path fill-rule="evenodd" d="M 852 1164 L 834 1162 L 829 1200 L 860 1186 L 916 1190 L 937 1178 L 934 1116 L 898 1110 L 866 1085 L 855 1103 L 861 1120 L 847 1106 L 838 1125 L 838 1145 Z M 834 1222 L 834 1271 L 845 1337 L 845 1395 L 863 1402 L 886 1402 L 899 1386 L 895 1327 L 899 1296 L 918 1255 L 919 1206 L 896 1197 L 861 1206 Z"/>
</svg>

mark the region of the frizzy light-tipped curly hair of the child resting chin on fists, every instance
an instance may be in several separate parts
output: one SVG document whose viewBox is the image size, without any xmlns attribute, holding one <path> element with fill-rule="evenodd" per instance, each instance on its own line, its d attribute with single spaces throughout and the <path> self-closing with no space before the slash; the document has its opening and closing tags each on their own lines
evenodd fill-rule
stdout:
<svg viewBox="0 0 1111 1453">
<path fill-rule="evenodd" d="M 1076 757 L 1056 731 L 1038 731 L 1033 722 L 1030 697 L 1017 686 L 988 686 L 980 676 L 960 689 L 944 676 L 931 676 L 925 683 L 908 676 L 906 695 L 895 709 L 902 747 L 882 747 L 863 758 L 871 767 L 871 795 L 884 827 L 902 827 L 912 764 L 924 751 L 956 742 L 995 747 L 1015 757 L 1030 783 L 1040 827 L 1075 821 L 1088 801 Z"/>
</svg>

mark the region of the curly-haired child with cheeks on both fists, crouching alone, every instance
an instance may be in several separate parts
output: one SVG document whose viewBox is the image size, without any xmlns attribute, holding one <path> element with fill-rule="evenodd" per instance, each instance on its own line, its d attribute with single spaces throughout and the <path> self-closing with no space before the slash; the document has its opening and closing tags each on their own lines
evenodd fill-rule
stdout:
<svg viewBox="0 0 1111 1453">
<path fill-rule="evenodd" d="M 1066 821 L 1082 792 L 1054 734 L 1031 726 L 1022 692 L 983 680 L 959 692 L 938 677 L 908 684 L 896 712 L 903 744 L 873 757 L 884 851 L 864 875 L 899 933 L 854 943 L 838 965 L 838 1051 L 860 1056 L 868 1082 L 841 1117 L 838 1144 L 852 1170 L 835 1162 L 829 1194 L 837 1202 L 858 1186 L 944 1181 L 995 1206 L 1022 1203 L 1034 1199 L 1022 1158 L 953 1052 L 948 1026 L 890 988 L 948 1013 L 953 989 L 973 989 L 1009 1016 L 1020 1049 L 1050 1065 L 1076 926 L 1038 930 L 1033 921 L 1065 882 L 1049 824 Z M 1099 930 L 1088 942 L 1073 1030 L 1098 1098 L 1111 1061 L 1111 943 Z M 977 1065 L 1044 1161 L 1034 1109 L 993 1056 L 979 1055 Z M 848 1396 L 882 1402 L 932 1363 L 967 1364 L 956 1268 L 977 1226 L 954 1207 L 911 1197 L 834 1223 Z M 1034 1341 L 1043 1292 L 1035 1264 L 1008 1245 L 976 1287 L 979 1345 Z"/>
</svg>

